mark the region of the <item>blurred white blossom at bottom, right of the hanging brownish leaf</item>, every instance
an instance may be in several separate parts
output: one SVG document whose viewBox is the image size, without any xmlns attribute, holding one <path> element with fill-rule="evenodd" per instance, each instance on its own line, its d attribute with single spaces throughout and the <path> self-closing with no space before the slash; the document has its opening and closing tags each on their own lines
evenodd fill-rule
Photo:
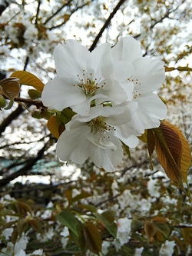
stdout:
<svg viewBox="0 0 192 256">
<path fill-rule="evenodd" d="M 131 221 L 128 218 L 119 218 L 117 221 L 117 236 L 114 241 L 114 246 L 118 250 L 121 246 L 129 241 L 131 233 Z"/>
</svg>

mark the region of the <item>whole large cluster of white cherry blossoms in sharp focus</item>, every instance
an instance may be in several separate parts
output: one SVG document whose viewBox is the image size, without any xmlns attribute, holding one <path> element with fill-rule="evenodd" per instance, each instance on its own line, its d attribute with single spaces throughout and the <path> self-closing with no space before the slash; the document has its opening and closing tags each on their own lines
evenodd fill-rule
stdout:
<svg viewBox="0 0 192 256">
<path fill-rule="evenodd" d="M 135 148 L 137 136 L 157 128 L 167 115 L 155 93 L 164 82 L 164 62 L 142 57 L 139 42 L 129 36 L 93 52 L 66 40 L 55 47 L 54 58 L 58 76 L 45 85 L 43 104 L 76 113 L 58 138 L 58 157 L 79 165 L 90 158 L 99 168 L 114 171 L 123 145 Z"/>
</svg>

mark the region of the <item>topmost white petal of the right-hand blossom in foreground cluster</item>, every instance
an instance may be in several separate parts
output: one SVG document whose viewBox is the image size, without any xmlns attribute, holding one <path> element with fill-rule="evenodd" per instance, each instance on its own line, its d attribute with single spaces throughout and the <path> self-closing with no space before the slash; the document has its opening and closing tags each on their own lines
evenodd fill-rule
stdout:
<svg viewBox="0 0 192 256">
<path fill-rule="evenodd" d="M 116 61 L 133 62 L 135 58 L 142 56 L 141 47 L 139 42 L 131 36 L 120 37 L 117 45 L 111 48 L 111 55 Z"/>
</svg>

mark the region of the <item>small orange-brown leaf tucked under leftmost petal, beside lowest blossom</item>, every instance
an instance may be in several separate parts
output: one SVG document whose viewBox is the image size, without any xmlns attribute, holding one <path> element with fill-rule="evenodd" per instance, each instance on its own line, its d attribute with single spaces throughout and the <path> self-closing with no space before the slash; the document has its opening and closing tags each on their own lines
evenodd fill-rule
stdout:
<svg viewBox="0 0 192 256">
<path fill-rule="evenodd" d="M 65 125 L 61 124 L 61 121 L 59 121 L 55 115 L 52 115 L 51 118 L 48 119 L 48 129 L 55 138 L 59 138 L 61 133 L 65 131 Z"/>
</svg>

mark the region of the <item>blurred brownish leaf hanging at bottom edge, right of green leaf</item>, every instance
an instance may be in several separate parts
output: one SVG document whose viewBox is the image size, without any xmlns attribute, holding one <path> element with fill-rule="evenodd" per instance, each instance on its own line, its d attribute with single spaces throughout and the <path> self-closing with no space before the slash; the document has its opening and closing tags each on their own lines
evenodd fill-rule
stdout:
<svg viewBox="0 0 192 256">
<path fill-rule="evenodd" d="M 101 251 L 102 240 L 98 228 L 91 221 L 84 224 L 84 239 L 90 251 L 98 254 Z"/>
</svg>

